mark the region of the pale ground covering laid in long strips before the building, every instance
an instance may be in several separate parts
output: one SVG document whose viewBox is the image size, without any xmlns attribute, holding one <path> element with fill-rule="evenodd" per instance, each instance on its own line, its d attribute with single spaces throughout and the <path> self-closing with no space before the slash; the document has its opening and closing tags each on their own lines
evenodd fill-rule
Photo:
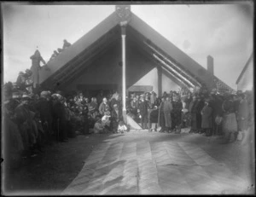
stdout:
<svg viewBox="0 0 256 197">
<path fill-rule="evenodd" d="M 166 141 L 159 136 L 166 136 Z M 247 180 L 193 140 L 177 136 L 148 130 L 110 135 L 93 149 L 62 194 L 244 193 L 250 185 Z"/>
</svg>

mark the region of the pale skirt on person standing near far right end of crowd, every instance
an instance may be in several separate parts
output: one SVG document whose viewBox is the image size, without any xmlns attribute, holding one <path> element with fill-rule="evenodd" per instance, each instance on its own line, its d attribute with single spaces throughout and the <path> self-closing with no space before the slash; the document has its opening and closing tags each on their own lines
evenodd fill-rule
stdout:
<svg viewBox="0 0 256 197">
<path fill-rule="evenodd" d="M 222 129 L 225 134 L 237 131 L 237 121 L 235 113 L 224 114 Z"/>
</svg>

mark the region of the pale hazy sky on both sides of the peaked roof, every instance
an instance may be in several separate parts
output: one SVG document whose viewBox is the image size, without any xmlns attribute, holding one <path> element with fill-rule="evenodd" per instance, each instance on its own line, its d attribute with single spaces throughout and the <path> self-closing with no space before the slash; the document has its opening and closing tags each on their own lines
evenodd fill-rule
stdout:
<svg viewBox="0 0 256 197">
<path fill-rule="evenodd" d="M 74 43 L 112 14 L 114 5 L 2 3 L 3 82 L 30 68 L 38 48 L 45 61 L 63 39 Z M 236 79 L 253 53 L 253 3 L 131 5 L 149 26 L 236 90 Z"/>
</svg>

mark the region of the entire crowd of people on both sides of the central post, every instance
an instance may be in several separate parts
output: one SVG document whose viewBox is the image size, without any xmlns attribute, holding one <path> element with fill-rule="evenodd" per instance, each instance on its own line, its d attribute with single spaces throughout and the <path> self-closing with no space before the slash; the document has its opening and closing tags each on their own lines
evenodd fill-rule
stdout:
<svg viewBox="0 0 256 197">
<path fill-rule="evenodd" d="M 90 133 L 124 133 L 129 131 L 122 112 L 122 98 L 118 92 L 86 97 L 82 92 L 67 95 L 61 91 L 30 90 L 32 84 L 22 78 L 17 84 L 4 85 L 3 120 L 6 147 L 9 155 L 24 157 L 40 154 L 44 146 L 53 142 L 68 142 L 68 138 Z M 142 129 L 169 133 L 189 133 L 212 136 L 224 135 L 227 142 L 246 141 L 248 126 L 253 124 L 253 96 L 251 92 L 219 94 L 189 90 L 154 91 L 126 97 L 127 115 Z"/>
</svg>

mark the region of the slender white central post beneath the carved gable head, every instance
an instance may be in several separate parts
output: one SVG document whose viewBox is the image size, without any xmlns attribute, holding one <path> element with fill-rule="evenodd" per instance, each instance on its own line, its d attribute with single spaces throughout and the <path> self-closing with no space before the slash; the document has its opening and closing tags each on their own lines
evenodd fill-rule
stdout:
<svg viewBox="0 0 256 197">
<path fill-rule="evenodd" d="M 125 36 L 126 27 L 121 26 L 122 30 L 122 106 L 123 106 L 123 119 L 125 124 L 127 123 L 126 118 L 126 58 L 125 58 Z"/>
</svg>

